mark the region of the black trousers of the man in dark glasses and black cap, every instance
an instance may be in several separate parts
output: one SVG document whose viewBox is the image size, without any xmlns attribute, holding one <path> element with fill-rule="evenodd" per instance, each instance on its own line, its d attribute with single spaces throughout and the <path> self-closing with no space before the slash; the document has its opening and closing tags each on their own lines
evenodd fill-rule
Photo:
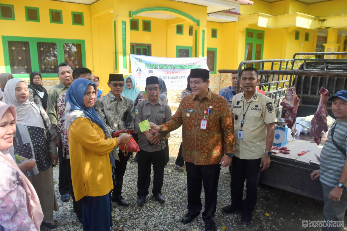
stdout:
<svg viewBox="0 0 347 231">
<path fill-rule="evenodd" d="M 127 168 L 128 160 L 130 158 L 130 153 L 127 156 L 124 155 L 122 150 L 119 150 L 118 156 L 119 160 L 115 161 L 115 167 L 112 166 L 112 181 L 113 181 L 113 190 L 112 196 L 118 196 L 122 194 L 123 187 L 123 177 L 125 170 Z"/>
</svg>

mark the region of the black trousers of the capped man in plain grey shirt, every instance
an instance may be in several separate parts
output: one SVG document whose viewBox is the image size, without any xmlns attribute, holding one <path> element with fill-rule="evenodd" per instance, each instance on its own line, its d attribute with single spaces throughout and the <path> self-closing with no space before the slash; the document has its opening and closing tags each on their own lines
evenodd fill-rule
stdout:
<svg viewBox="0 0 347 231">
<path fill-rule="evenodd" d="M 161 193 L 164 181 L 166 156 L 163 150 L 146 152 L 140 148 L 137 153 L 137 196 L 147 196 L 151 183 L 151 163 L 153 163 L 153 195 Z"/>
</svg>

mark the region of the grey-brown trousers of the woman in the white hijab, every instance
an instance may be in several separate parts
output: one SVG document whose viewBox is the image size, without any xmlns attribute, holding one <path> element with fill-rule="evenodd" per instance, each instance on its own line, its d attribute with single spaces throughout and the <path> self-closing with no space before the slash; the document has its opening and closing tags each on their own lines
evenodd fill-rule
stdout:
<svg viewBox="0 0 347 231">
<path fill-rule="evenodd" d="M 53 209 L 59 210 L 56 193 L 54 192 L 52 166 L 46 171 L 39 171 L 39 174 L 28 177 L 39 197 L 43 222 L 53 222 Z"/>
</svg>

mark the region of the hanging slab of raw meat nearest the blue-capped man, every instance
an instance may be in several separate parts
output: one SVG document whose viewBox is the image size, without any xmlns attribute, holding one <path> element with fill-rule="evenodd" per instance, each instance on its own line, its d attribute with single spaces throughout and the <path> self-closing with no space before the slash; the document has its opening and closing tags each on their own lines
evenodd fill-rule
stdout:
<svg viewBox="0 0 347 231">
<path fill-rule="evenodd" d="M 310 136 L 314 137 L 314 141 L 317 145 L 321 143 L 322 139 L 322 131 L 328 131 L 327 125 L 327 116 L 328 116 L 328 108 L 327 108 L 327 96 L 329 94 L 328 89 L 322 87 L 319 90 L 321 94 L 321 100 L 318 104 L 318 109 L 316 113 L 314 113 L 313 119 L 311 120 L 311 130 Z"/>
</svg>

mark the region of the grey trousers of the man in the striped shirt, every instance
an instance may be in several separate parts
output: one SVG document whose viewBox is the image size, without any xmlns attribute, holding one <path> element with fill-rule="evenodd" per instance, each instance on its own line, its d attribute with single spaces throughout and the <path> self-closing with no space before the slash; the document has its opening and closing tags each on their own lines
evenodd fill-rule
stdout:
<svg viewBox="0 0 347 231">
<path fill-rule="evenodd" d="M 334 187 L 322 183 L 323 189 L 323 231 L 343 231 L 345 220 L 345 212 L 347 209 L 347 188 L 342 191 L 340 201 L 329 199 L 329 194 Z M 341 223 L 342 222 L 342 223 Z M 332 227 L 329 227 L 332 226 Z M 335 227 L 333 227 L 335 226 Z"/>
</svg>

